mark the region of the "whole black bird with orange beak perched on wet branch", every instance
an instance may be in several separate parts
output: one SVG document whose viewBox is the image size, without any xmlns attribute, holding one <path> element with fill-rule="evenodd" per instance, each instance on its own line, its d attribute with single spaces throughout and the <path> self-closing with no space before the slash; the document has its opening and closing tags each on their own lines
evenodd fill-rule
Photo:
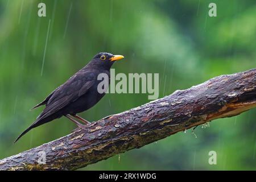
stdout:
<svg viewBox="0 0 256 182">
<path fill-rule="evenodd" d="M 63 85 L 56 88 L 44 101 L 32 108 L 35 109 L 46 105 L 43 112 L 36 118 L 36 121 L 23 131 L 15 142 L 34 127 L 60 118 L 63 115 L 82 129 L 88 127 L 76 121 L 75 118 L 86 125 L 90 124 L 90 122 L 79 117 L 77 113 L 90 109 L 105 95 L 105 93 L 99 93 L 97 90 L 98 84 L 101 82 L 101 80 L 97 80 L 97 77 L 100 73 L 106 73 L 110 79 L 109 70 L 114 61 L 120 59 L 123 59 L 123 56 L 106 52 L 97 53 L 84 68 L 75 73 Z"/>
</svg>

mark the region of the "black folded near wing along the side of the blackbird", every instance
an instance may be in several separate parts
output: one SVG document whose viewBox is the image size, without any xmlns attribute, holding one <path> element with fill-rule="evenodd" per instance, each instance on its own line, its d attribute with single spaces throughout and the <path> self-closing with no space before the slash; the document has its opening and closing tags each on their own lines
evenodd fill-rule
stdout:
<svg viewBox="0 0 256 182">
<path fill-rule="evenodd" d="M 96 82 L 96 75 L 93 72 L 77 73 L 61 85 L 49 98 L 46 108 L 38 116 L 38 119 L 46 118 L 56 113 L 63 107 L 76 101 L 85 94 Z"/>
</svg>

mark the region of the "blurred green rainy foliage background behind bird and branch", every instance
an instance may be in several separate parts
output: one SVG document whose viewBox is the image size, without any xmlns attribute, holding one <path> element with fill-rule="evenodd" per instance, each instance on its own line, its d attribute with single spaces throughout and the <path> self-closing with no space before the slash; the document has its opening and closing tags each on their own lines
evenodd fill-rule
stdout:
<svg viewBox="0 0 256 182">
<path fill-rule="evenodd" d="M 46 17 L 38 17 L 40 2 L 46 3 Z M 217 4 L 217 17 L 208 16 L 210 2 Z M 0 158 L 75 129 L 61 118 L 13 144 L 43 108 L 29 109 L 97 52 L 126 57 L 114 64 L 116 73 L 159 73 L 163 97 L 214 76 L 255 68 L 255 17 L 255 0 L 1 0 Z M 147 94 L 107 94 L 81 116 L 96 121 L 146 102 Z M 83 169 L 255 170 L 255 116 L 254 109 L 217 119 L 207 129 L 197 127 L 197 138 L 191 130 L 177 133 Z M 217 165 L 208 163 L 212 150 Z"/>
</svg>

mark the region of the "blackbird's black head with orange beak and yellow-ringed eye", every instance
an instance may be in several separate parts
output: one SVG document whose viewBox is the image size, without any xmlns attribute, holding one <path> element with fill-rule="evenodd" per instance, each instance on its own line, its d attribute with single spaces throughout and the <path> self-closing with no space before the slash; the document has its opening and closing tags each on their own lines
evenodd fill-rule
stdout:
<svg viewBox="0 0 256 182">
<path fill-rule="evenodd" d="M 115 61 L 123 58 L 124 57 L 122 55 L 113 55 L 112 53 L 108 52 L 100 52 L 93 57 L 90 64 L 95 65 L 96 67 L 109 69 Z"/>
</svg>

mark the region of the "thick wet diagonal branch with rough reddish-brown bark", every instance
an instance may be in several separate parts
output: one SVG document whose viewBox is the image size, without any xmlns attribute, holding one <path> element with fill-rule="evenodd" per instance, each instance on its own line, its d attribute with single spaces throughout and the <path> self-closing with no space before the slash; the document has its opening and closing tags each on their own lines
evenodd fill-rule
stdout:
<svg viewBox="0 0 256 182">
<path fill-rule="evenodd" d="M 212 78 L 187 90 L 92 123 L 73 133 L 0 160 L 1 170 L 85 167 L 217 118 L 256 106 L 256 69 Z M 46 164 L 38 164 L 39 152 Z"/>
</svg>

